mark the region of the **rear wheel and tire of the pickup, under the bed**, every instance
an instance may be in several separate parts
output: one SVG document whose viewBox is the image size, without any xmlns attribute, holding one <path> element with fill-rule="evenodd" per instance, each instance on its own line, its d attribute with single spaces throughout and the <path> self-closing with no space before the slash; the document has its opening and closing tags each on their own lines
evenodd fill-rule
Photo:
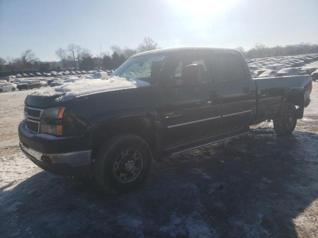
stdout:
<svg viewBox="0 0 318 238">
<path fill-rule="evenodd" d="M 293 133 L 297 124 L 296 108 L 293 104 L 288 103 L 273 119 L 274 129 L 278 135 L 289 135 Z"/>
</svg>

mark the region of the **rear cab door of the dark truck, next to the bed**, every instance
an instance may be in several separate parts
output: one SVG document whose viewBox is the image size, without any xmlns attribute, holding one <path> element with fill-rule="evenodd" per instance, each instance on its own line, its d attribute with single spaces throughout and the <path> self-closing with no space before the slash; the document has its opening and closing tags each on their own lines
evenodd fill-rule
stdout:
<svg viewBox="0 0 318 238">
<path fill-rule="evenodd" d="M 247 125 L 256 111 L 255 84 L 244 61 L 235 51 L 214 52 L 210 57 L 225 131 Z"/>
</svg>

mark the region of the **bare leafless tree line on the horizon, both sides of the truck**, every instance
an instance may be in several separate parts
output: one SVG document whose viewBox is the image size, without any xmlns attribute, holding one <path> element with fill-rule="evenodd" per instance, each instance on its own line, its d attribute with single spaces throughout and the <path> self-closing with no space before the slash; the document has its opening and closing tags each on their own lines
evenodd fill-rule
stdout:
<svg viewBox="0 0 318 238">
<path fill-rule="evenodd" d="M 129 47 L 120 48 L 117 45 L 113 45 L 110 47 L 110 52 L 103 52 L 93 56 L 89 49 L 82 48 L 76 44 L 69 44 L 66 48 L 59 48 L 55 51 L 56 56 L 59 58 L 58 62 L 42 62 L 30 49 L 27 49 L 21 53 L 20 57 L 15 59 L 10 56 L 5 59 L 0 57 L 0 71 L 36 69 L 41 72 L 47 72 L 51 70 L 61 71 L 63 69 L 115 69 L 136 53 L 158 48 L 158 44 L 153 39 L 146 37 L 136 49 Z M 284 47 L 266 47 L 263 44 L 256 43 L 248 51 L 245 51 L 242 47 L 236 49 L 241 51 L 246 59 L 318 53 L 318 45 L 311 43 L 286 45 Z"/>
</svg>

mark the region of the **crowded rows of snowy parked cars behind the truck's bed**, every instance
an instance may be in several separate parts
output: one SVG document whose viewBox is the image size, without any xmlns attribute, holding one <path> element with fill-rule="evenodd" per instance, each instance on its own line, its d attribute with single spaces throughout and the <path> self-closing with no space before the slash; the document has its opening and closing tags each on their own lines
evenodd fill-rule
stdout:
<svg viewBox="0 0 318 238">
<path fill-rule="evenodd" d="M 318 54 L 266 57 L 246 62 L 254 78 L 309 74 L 312 75 L 313 81 L 316 81 L 318 68 L 302 66 L 315 60 L 318 60 Z"/>
</svg>

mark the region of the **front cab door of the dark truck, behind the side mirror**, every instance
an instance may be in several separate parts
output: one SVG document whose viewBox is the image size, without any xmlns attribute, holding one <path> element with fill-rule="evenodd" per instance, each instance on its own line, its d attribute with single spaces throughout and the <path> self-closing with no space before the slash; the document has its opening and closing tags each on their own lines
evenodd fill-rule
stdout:
<svg viewBox="0 0 318 238">
<path fill-rule="evenodd" d="M 182 72 L 189 64 L 201 64 L 202 78 L 196 86 L 183 84 Z M 166 145 L 189 142 L 216 132 L 221 123 L 219 101 L 205 55 L 183 55 L 165 62 L 161 82 L 161 119 Z"/>
</svg>

